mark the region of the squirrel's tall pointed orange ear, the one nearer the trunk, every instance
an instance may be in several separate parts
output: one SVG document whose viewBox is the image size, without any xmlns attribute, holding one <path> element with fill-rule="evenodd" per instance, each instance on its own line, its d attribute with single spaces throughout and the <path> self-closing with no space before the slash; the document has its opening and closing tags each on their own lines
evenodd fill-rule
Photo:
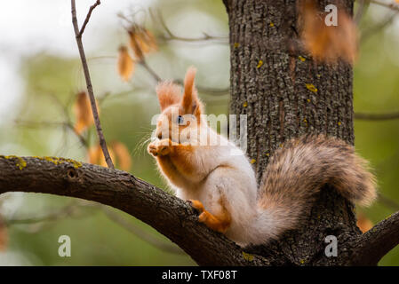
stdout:
<svg viewBox="0 0 399 284">
<path fill-rule="evenodd" d="M 184 78 L 184 94 L 181 105 L 186 114 L 201 114 L 202 104 L 198 99 L 194 80 L 196 78 L 196 68 L 189 67 Z"/>
</svg>

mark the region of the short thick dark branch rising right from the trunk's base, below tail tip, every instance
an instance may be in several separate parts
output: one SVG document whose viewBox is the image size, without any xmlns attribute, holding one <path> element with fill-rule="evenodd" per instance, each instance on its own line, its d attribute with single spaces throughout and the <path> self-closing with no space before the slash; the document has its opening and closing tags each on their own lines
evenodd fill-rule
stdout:
<svg viewBox="0 0 399 284">
<path fill-rule="evenodd" d="M 382 256 L 399 244 L 399 212 L 387 217 L 359 236 L 352 247 L 350 265 L 376 265 Z"/>
</svg>

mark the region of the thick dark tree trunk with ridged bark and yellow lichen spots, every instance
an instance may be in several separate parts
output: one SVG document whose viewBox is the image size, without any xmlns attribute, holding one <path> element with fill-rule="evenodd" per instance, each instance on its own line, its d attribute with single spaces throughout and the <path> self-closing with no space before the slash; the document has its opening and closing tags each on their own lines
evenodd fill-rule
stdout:
<svg viewBox="0 0 399 284">
<path fill-rule="evenodd" d="M 317 64 L 299 46 L 296 1 L 225 1 L 230 27 L 231 114 L 247 114 L 247 153 L 258 181 L 287 138 L 324 133 L 354 144 L 352 67 Z M 319 3 L 324 10 L 324 1 Z M 346 1 L 352 13 L 353 1 Z M 357 237 L 354 207 L 334 190 L 320 193 L 307 222 L 254 253 L 279 255 L 278 264 L 343 264 L 345 251 L 327 257 L 324 238 Z M 342 248 L 342 246 L 341 246 Z"/>
</svg>

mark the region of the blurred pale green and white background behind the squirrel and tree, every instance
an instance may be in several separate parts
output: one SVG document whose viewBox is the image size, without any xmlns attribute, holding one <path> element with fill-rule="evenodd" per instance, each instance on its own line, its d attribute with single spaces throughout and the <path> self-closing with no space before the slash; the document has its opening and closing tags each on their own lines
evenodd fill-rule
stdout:
<svg viewBox="0 0 399 284">
<path fill-rule="evenodd" d="M 82 23 L 94 1 L 76 2 Z M 151 118 L 158 112 L 156 80 L 140 65 L 128 82 L 117 72 L 119 46 L 129 43 L 125 28 L 132 20 L 156 36 L 157 51 L 146 55 L 146 62 L 161 78 L 182 79 L 188 66 L 196 66 L 198 86 L 219 90 L 200 91 L 207 112 L 226 114 L 227 13 L 221 1 L 214 0 L 101 2 L 84 32 L 84 48 L 105 137 L 127 147 L 132 174 L 165 188 L 145 150 L 153 130 Z M 161 18 L 180 40 L 168 38 Z M 395 11 L 373 4 L 363 13 L 355 64 L 355 112 L 399 111 L 397 19 Z M 187 40 L 203 33 L 215 38 Z M 76 122 L 76 93 L 85 89 L 70 1 L 3 1 L 0 35 L 0 154 L 63 156 L 86 162 L 87 147 L 67 126 Z M 83 135 L 89 146 L 96 145 L 93 127 Z M 363 219 L 375 224 L 399 209 L 399 119 L 356 120 L 355 146 L 371 161 L 379 179 L 381 199 L 370 209 L 357 209 Z M 0 196 L 0 217 L 1 265 L 195 264 L 148 225 L 93 202 L 7 193 Z M 65 234 L 71 238 L 71 257 L 58 255 L 58 239 Z M 399 265 L 399 248 L 380 264 Z"/>
</svg>

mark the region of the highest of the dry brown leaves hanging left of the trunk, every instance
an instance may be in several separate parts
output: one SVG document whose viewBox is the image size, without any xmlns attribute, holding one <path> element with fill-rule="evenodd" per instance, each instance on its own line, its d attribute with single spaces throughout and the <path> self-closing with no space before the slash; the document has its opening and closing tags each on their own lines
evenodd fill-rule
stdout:
<svg viewBox="0 0 399 284">
<path fill-rule="evenodd" d="M 128 30 L 130 45 L 137 59 L 143 59 L 145 54 L 157 50 L 156 37 L 146 28 L 133 25 Z"/>
</svg>

